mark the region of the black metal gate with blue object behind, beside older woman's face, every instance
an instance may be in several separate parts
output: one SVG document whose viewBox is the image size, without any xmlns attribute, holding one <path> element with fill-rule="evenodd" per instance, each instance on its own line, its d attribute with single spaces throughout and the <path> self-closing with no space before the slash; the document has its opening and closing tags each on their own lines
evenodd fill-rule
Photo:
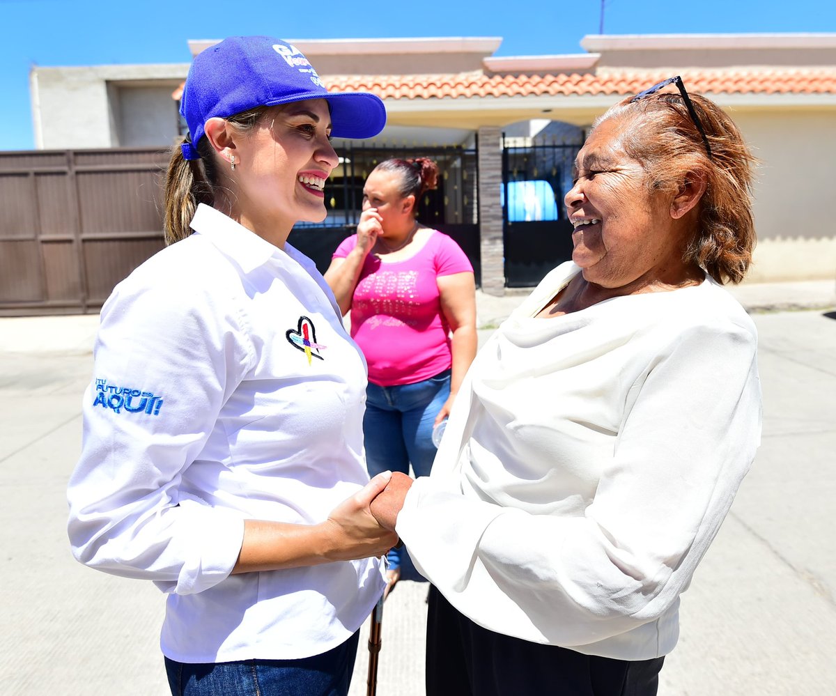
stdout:
<svg viewBox="0 0 836 696">
<path fill-rule="evenodd" d="M 572 258 L 572 225 L 563 196 L 572 186 L 578 142 L 534 142 L 502 138 L 502 220 L 505 284 L 538 284 Z"/>
</svg>

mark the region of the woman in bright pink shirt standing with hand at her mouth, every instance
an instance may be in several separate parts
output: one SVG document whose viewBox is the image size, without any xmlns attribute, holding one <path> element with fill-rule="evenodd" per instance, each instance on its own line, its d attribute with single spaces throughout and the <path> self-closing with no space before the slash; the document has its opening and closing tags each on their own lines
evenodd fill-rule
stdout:
<svg viewBox="0 0 836 696">
<path fill-rule="evenodd" d="M 446 234 L 416 219 L 436 187 L 436 162 L 380 162 L 363 188 L 357 234 L 334 252 L 325 279 L 369 365 L 363 422 L 369 472 L 430 473 L 432 429 L 450 412 L 476 354 L 473 268 Z M 389 555 L 389 587 L 400 550 Z"/>
</svg>

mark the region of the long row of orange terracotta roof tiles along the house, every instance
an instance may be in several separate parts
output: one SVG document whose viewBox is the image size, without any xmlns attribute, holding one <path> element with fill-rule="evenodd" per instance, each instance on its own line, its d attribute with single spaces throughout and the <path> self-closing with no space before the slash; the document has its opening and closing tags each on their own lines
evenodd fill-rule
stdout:
<svg viewBox="0 0 836 696">
<path fill-rule="evenodd" d="M 630 95 L 670 77 L 670 71 L 616 71 L 597 74 L 331 75 L 334 92 L 367 91 L 383 99 L 528 95 Z M 836 68 L 691 69 L 680 73 L 687 88 L 706 94 L 836 94 Z"/>
</svg>

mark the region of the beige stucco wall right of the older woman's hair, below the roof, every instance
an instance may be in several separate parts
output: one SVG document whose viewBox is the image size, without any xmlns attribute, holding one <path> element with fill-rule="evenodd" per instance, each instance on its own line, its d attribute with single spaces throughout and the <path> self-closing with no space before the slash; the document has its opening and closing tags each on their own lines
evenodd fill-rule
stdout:
<svg viewBox="0 0 836 696">
<path fill-rule="evenodd" d="M 836 114 L 731 111 L 761 160 L 750 282 L 836 278 Z"/>
</svg>

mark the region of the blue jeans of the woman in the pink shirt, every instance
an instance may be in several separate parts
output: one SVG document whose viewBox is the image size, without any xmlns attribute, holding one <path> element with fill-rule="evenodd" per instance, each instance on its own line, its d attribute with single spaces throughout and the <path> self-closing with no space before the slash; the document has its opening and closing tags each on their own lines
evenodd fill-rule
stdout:
<svg viewBox="0 0 836 696">
<path fill-rule="evenodd" d="M 381 471 L 429 476 L 436 446 L 432 426 L 438 412 L 450 397 L 450 370 L 428 380 L 398 386 L 379 386 L 369 382 L 363 436 L 369 475 Z M 389 567 L 400 568 L 400 550 L 388 555 Z"/>
</svg>

